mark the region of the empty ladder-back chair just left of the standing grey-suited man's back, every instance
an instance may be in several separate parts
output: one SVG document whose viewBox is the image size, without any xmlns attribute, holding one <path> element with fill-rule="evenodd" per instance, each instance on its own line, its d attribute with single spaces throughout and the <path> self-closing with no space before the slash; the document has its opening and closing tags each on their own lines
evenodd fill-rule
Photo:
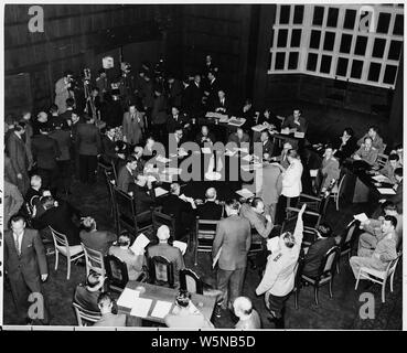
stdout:
<svg viewBox="0 0 407 353">
<path fill-rule="evenodd" d="M 212 253 L 213 240 L 216 235 L 218 221 L 195 218 L 195 232 L 192 244 L 194 246 L 194 265 L 197 265 L 197 253 Z"/>
</svg>

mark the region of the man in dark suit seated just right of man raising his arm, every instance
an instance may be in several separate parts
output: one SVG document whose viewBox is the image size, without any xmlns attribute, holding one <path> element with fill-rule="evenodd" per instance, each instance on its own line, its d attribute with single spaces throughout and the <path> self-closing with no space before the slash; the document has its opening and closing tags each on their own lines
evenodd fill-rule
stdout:
<svg viewBox="0 0 407 353">
<path fill-rule="evenodd" d="M 308 248 L 302 274 L 309 277 L 318 276 L 322 260 L 330 248 L 341 243 L 341 236 L 334 236 L 329 224 L 322 223 L 317 229 L 317 240 Z"/>
</svg>

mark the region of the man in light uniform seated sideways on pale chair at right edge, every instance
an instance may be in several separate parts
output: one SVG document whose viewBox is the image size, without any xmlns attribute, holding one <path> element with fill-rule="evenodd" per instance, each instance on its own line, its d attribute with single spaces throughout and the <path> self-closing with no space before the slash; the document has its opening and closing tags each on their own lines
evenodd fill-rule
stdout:
<svg viewBox="0 0 407 353">
<path fill-rule="evenodd" d="M 350 265 L 355 278 L 358 276 L 361 267 L 368 267 L 384 271 L 389 261 L 397 257 L 396 234 L 397 220 L 393 216 L 385 216 L 382 224 L 383 237 L 377 242 L 374 249 L 358 248 L 357 256 L 352 256 Z"/>
</svg>

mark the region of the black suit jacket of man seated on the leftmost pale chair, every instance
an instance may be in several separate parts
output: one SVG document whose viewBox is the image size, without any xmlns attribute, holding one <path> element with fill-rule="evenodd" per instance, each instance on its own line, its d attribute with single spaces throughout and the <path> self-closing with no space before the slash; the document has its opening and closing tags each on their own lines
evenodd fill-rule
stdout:
<svg viewBox="0 0 407 353">
<path fill-rule="evenodd" d="M 46 210 L 39 217 L 39 224 L 42 227 L 51 226 L 56 232 L 65 234 L 69 246 L 79 245 L 79 227 L 73 222 L 73 216 L 74 210 L 67 203 L 62 203 L 57 207 Z"/>
</svg>

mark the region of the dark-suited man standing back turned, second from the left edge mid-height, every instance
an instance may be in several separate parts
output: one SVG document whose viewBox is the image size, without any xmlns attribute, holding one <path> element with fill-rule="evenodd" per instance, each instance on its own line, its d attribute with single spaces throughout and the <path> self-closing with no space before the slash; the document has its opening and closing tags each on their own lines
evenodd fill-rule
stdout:
<svg viewBox="0 0 407 353">
<path fill-rule="evenodd" d="M 55 191 L 58 178 L 56 160 L 61 157 L 61 150 L 56 140 L 52 139 L 49 132 L 49 129 L 41 128 L 40 135 L 34 136 L 32 154 L 44 188 Z"/>
</svg>

